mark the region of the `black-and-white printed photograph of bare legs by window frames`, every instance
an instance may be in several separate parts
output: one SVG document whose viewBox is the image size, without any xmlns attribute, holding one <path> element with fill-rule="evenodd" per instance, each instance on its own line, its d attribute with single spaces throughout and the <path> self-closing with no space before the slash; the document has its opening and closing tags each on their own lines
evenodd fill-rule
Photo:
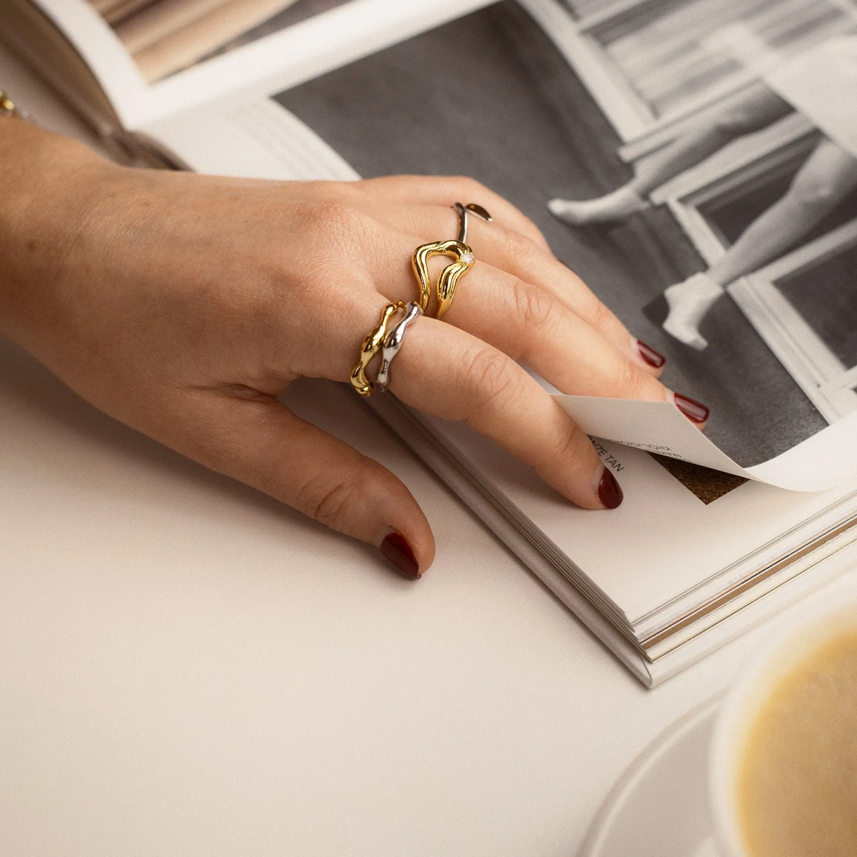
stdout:
<svg viewBox="0 0 857 857">
<path fill-rule="evenodd" d="M 363 177 L 514 202 L 748 466 L 857 410 L 855 33 L 832 0 L 504 0 L 275 98 Z"/>
</svg>

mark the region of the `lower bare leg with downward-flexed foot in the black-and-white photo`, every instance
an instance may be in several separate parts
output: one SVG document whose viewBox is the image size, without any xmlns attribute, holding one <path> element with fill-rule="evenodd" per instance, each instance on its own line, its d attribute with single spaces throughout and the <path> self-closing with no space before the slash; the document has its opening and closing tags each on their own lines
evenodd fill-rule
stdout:
<svg viewBox="0 0 857 857">
<path fill-rule="evenodd" d="M 786 194 L 746 228 L 722 259 L 664 291 L 663 329 L 702 351 L 708 342 L 699 325 L 725 287 L 794 246 L 855 188 L 857 158 L 834 141 L 820 141 Z"/>
</svg>

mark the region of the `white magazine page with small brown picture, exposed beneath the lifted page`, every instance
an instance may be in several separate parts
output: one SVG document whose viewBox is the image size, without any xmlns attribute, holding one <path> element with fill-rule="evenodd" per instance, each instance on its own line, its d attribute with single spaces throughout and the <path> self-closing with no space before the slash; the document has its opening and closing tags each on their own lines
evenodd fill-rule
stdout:
<svg viewBox="0 0 857 857">
<path fill-rule="evenodd" d="M 543 534 L 533 534 L 539 547 L 572 582 L 640 638 L 682 620 L 857 512 L 854 485 L 796 493 L 728 478 L 693 484 L 694 474 L 676 473 L 662 458 L 596 440 L 625 494 L 606 519 L 571 506 L 467 426 L 434 417 L 425 422 L 536 524 Z M 857 537 L 854 528 L 849 537 Z"/>
</svg>

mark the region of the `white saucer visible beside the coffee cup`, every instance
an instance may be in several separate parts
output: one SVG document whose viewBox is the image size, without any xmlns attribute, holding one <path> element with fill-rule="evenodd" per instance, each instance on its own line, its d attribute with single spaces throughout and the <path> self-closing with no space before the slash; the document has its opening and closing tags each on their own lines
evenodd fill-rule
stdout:
<svg viewBox="0 0 857 857">
<path fill-rule="evenodd" d="M 715 857 L 708 749 L 722 696 L 662 733 L 620 776 L 578 857 Z"/>
</svg>

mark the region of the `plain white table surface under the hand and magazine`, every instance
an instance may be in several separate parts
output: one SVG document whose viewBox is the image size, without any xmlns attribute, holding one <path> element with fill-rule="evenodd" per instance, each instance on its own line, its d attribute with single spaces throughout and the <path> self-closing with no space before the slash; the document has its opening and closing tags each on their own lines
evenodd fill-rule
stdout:
<svg viewBox="0 0 857 857">
<path fill-rule="evenodd" d="M 84 134 L 6 52 L 0 85 Z M 0 854 L 572 855 L 770 634 L 646 691 L 355 398 L 291 400 L 423 504 L 417 584 L 0 340 Z"/>
</svg>

